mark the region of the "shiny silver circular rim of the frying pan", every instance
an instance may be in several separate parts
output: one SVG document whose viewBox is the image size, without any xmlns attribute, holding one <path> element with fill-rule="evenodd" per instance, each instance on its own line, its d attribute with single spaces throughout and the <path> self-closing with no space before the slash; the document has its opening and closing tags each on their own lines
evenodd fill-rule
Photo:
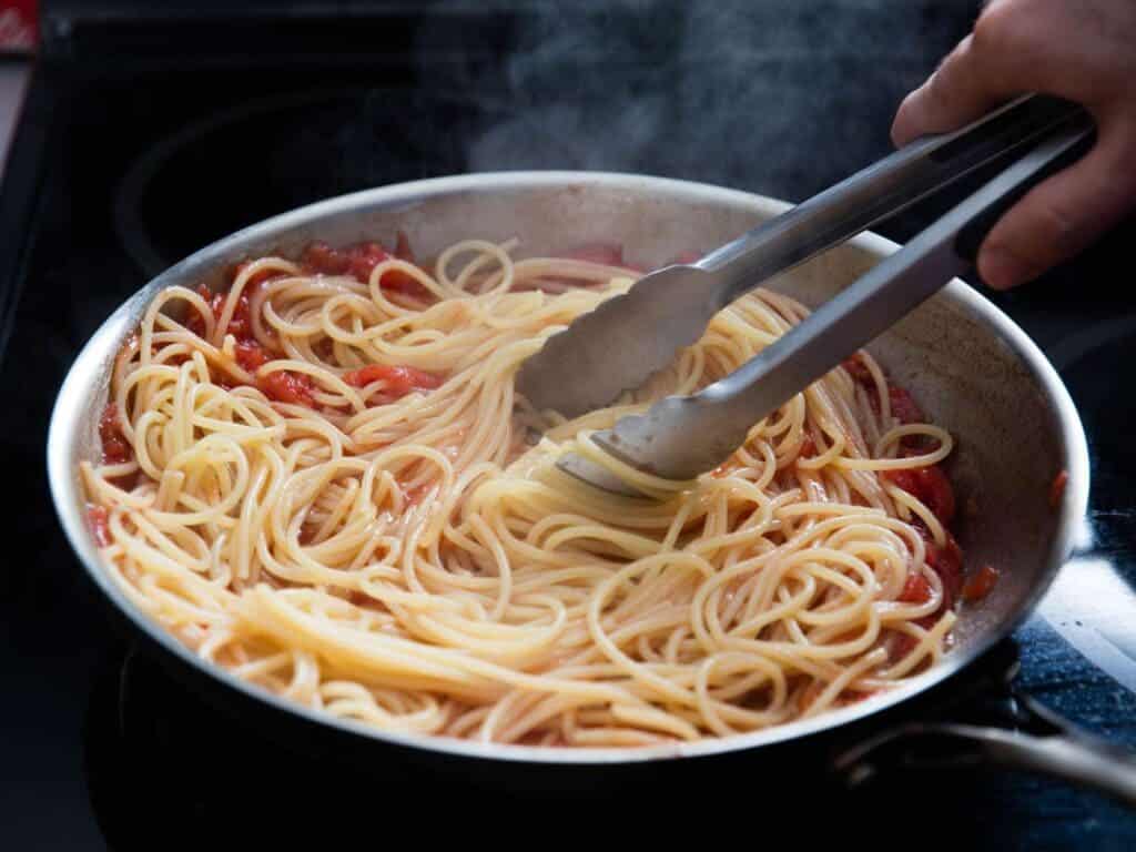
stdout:
<svg viewBox="0 0 1136 852">
<path fill-rule="evenodd" d="M 83 520 L 83 512 L 80 508 L 83 504 L 83 498 L 78 475 L 72 463 L 72 446 L 74 436 L 84 420 L 84 410 L 80 403 L 86 399 L 86 391 L 92 382 L 105 381 L 103 358 L 98 356 L 108 346 L 117 349 L 118 342 L 127 331 L 126 325 L 134 316 L 133 306 L 140 301 L 149 302 L 158 290 L 184 281 L 186 277 L 192 277 L 198 270 L 210 268 L 217 259 L 239 252 L 243 245 L 296 226 L 318 223 L 329 216 L 352 210 L 398 207 L 449 194 L 563 190 L 582 184 L 623 190 L 633 195 L 642 197 L 669 193 L 682 197 L 688 203 L 717 202 L 718 204 L 744 207 L 766 216 L 776 215 L 791 207 L 784 201 L 741 190 L 630 173 L 492 172 L 412 181 L 326 199 L 245 227 L 200 249 L 158 275 L 111 314 L 84 344 L 64 379 L 51 414 L 47 465 L 52 502 L 68 543 L 80 558 L 84 571 L 119 613 L 164 651 L 177 658 L 179 662 L 195 669 L 197 674 L 206 675 L 241 693 L 243 698 L 268 704 L 276 711 L 295 717 L 296 720 L 327 726 L 343 733 L 358 734 L 394 746 L 421 749 L 458 758 L 563 766 L 624 765 L 684 757 L 710 757 L 801 740 L 851 725 L 887 708 L 899 705 L 946 680 L 1009 635 L 1036 608 L 1058 570 L 1071 553 L 1078 527 L 1086 517 L 1089 478 L 1087 441 L 1074 402 L 1049 359 L 1010 317 L 958 278 L 951 281 L 941 291 L 941 298 L 950 300 L 979 323 L 991 327 L 1044 389 L 1058 420 L 1058 429 L 1063 442 L 1064 469 L 1068 471 L 1069 478 L 1066 484 L 1064 499 L 1055 519 L 1054 535 L 1046 554 L 1044 570 L 1039 580 L 1031 587 L 1030 593 L 1019 603 L 1014 616 L 980 640 L 946 654 L 938 665 L 913 678 L 910 683 L 887 693 L 871 696 L 846 708 L 821 713 L 812 719 L 799 719 L 762 730 L 728 737 L 705 737 L 690 743 L 652 746 L 542 747 L 381 730 L 360 721 L 336 718 L 323 711 L 300 705 L 241 680 L 235 675 L 194 654 L 172 633 L 152 620 L 126 598 L 103 566 Z M 850 243 L 879 258 L 886 257 L 900 248 L 891 240 L 871 232 L 860 234 Z"/>
</svg>

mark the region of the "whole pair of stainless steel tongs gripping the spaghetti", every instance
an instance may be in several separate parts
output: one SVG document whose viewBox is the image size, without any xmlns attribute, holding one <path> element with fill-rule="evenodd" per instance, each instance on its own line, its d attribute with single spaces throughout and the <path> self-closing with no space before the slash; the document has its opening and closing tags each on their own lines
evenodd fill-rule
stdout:
<svg viewBox="0 0 1136 852">
<path fill-rule="evenodd" d="M 636 470 L 693 479 L 729 458 L 754 423 L 971 270 L 1000 215 L 1087 150 L 1094 133 L 1079 106 L 1034 94 L 954 133 L 917 140 L 701 260 L 640 278 L 625 295 L 550 337 L 521 365 L 517 389 L 536 408 L 567 417 L 605 406 L 669 365 L 716 312 L 766 279 L 979 168 L 1004 166 L 734 373 L 592 435 Z M 558 466 L 601 488 L 641 494 L 583 456 L 566 453 Z"/>
</svg>

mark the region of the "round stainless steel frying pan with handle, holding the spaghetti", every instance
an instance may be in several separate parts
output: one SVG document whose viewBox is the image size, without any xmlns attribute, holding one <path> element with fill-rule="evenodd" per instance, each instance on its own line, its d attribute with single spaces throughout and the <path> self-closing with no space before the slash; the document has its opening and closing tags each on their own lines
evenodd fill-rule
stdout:
<svg viewBox="0 0 1136 852">
<path fill-rule="evenodd" d="M 312 240 L 332 244 L 387 241 L 396 228 L 412 236 L 421 256 L 471 236 L 520 237 L 523 256 L 616 241 L 626 247 L 629 260 L 651 268 L 683 251 L 720 245 L 785 208 L 783 202 L 744 192 L 637 175 L 503 173 L 370 190 L 245 228 L 154 278 L 80 353 L 59 392 L 48 441 L 51 492 L 62 527 L 94 584 L 134 629 L 152 640 L 164 659 L 192 673 L 198 683 L 220 684 L 219 692 L 243 705 L 266 708 L 308 730 L 335 729 L 336 735 L 357 743 L 357 737 L 366 737 L 448 761 L 513 761 L 557 772 L 566 770 L 563 765 L 611 767 L 742 752 L 815 738 L 868 720 L 950 678 L 1005 637 L 1038 602 L 1084 523 L 1088 456 L 1069 394 L 1029 337 L 960 281 L 877 340 L 871 351 L 912 391 L 934 421 L 955 435 L 951 474 L 959 504 L 964 507 L 960 538 L 967 563 L 997 566 L 1002 576 L 986 600 L 962 610 L 958 648 L 942 665 L 901 688 L 818 718 L 726 740 L 634 751 L 534 750 L 378 732 L 269 695 L 199 660 L 111 583 L 84 523 L 77 467 L 80 460 L 98 454 L 98 415 L 106 403 L 115 353 L 164 287 L 201 282 L 218 286 L 225 268 L 242 258 L 298 253 Z M 887 240 L 864 234 L 769 286 L 819 304 L 895 249 Z M 1069 478 L 1054 508 L 1049 501 L 1050 485 L 1061 470 Z M 1076 735 L 1043 740 L 1020 732 L 994 735 L 979 729 L 947 733 L 978 743 L 987 758 L 1063 775 L 1136 803 L 1136 765 L 1092 740 Z"/>
</svg>

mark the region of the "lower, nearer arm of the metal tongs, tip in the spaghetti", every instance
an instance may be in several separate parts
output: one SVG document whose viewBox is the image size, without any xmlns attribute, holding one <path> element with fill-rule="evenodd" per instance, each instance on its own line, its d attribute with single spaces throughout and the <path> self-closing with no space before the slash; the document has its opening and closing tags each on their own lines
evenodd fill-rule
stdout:
<svg viewBox="0 0 1136 852">
<path fill-rule="evenodd" d="M 754 423 L 967 273 L 1001 214 L 1092 143 L 1085 115 L 1070 116 L 1033 150 L 885 258 L 737 370 L 691 396 L 668 396 L 642 416 L 593 436 L 620 461 L 690 481 L 725 461 Z M 696 436 L 696 440 L 692 440 Z M 627 487 L 602 467 L 567 456 L 560 467 L 611 491 Z"/>
</svg>

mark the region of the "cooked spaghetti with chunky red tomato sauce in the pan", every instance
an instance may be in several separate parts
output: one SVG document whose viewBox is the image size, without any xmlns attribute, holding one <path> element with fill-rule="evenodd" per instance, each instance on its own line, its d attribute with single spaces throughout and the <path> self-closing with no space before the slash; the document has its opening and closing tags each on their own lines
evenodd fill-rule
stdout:
<svg viewBox="0 0 1136 852">
<path fill-rule="evenodd" d="M 728 736 L 942 657 L 952 441 L 867 353 L 666 500 L 599 492 L 556 459 L 596 457 L 593 431 L 726 375 L 807 311 L 746 295 L 641 391 L 566 421 L 512 376 L 636 272 L 510 250 L 468 240 L 431 275 L 401 237 L 317 244 L 242 264 L 219 294 L 159 293 L 82 469 L 128 598 L 308 707 L 532 745 Z"/>
</svg>

